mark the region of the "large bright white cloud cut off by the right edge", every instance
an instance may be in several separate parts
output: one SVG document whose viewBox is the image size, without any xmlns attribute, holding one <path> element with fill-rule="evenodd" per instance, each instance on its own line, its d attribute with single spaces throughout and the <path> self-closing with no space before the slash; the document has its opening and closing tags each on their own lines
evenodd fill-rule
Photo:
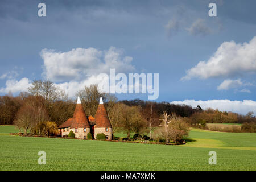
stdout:
<svg viewBox="0 0 256 182">
<path fill-rule="evenodd" d="M 186 71 L 181 80 L 193 77 L 207 79 L 212 77 L 232 77 L 242 73 L 256 73 L 256 36 L 249 43 L 236 44 L 224 42 L 208 61 L 200 61 Z"/>
</svg>

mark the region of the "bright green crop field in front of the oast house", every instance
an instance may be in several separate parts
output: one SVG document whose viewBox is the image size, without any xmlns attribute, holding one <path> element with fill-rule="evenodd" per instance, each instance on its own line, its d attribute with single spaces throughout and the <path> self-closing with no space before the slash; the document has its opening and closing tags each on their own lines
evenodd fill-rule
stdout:
<svg viewBox="0 0 256 182">
<path fill-rule="evenodd" d="M 188 144 L 165 146 L 8 135 L 15 131 L 0 126 L 0 170 L 256 170 L 256 133 L 192 129 Z M 208 164 L 212 150 L 217 165 Z"/>
</svg>

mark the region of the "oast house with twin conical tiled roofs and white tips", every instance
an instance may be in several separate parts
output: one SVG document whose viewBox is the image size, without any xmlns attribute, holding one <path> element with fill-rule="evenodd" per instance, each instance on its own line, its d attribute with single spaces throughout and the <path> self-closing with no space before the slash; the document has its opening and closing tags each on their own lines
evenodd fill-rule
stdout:
<svg viewBox="0 0 256 182">
<path fill-rule="evenodd" d="M 107 140 L 112 140 L 112 126 L 102 98 L 100 98 L 100 104 L 98 105 L 95 118 L 92 115 L 86 116 L 80 98 L 77 98 L 73 118 L 68 119 L 59 126 L 59 132 L 62 137 L 68 135 L 71 130 L 75 133 L 76 138 L 86 139 L 87 134 L 91 133 L 92 137 L 96 139 L 97 134 L 104 133 Z"/>
</svg>

